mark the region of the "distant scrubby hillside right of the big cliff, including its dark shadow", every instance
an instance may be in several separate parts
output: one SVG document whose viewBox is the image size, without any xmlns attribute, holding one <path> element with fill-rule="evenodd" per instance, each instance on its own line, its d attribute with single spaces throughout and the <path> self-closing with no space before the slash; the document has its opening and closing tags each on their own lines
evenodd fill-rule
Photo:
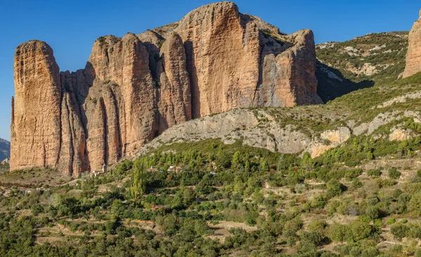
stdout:
<svg viewBox="0 0 421 257">
<path fill-rule="evenodd" d="M 367 34 L 316 45 L 318 95 L 323 102 L 348 92 L 396 81 L 405 69 L 408 32 Z"/>
</svg>

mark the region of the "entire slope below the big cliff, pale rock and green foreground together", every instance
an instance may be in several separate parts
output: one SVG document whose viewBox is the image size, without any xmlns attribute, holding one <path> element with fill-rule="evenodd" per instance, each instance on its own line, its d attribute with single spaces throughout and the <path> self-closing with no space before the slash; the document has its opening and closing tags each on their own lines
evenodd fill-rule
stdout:
<svg viewBox="0 0 421 257">
<path fill-rule="evenodd" d="M 0 237 L 19 241 L 0 254 L 419 256 L 420 81 L 203 117 L 107 174 L 6 187 Z"/>
</svg>

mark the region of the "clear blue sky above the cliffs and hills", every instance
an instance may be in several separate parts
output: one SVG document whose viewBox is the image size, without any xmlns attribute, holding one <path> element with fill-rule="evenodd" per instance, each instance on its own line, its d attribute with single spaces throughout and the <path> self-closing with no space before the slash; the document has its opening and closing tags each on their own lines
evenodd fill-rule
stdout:
<svg viewBox="0 0 421 257">
<path fill-rule="evenodd" d="M 0 0 L 0 137 L 10 139 L 13 54 L 31 39 L 46 41 L 60 70 L 85 66 L 99 36 L 140 33 L 180 20 L 208 0 Z M 257 15 L 291 33 L 312 29 L 316 43 L 345 41 L 371 32 L 409 30 L 420 0 L 235 1 L 241 13 Z"/>
</svg>

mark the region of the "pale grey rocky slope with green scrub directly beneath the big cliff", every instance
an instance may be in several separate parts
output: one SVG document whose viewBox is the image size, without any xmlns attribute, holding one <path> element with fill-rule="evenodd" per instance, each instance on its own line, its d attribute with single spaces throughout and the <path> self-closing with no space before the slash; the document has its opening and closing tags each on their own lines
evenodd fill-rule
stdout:
<svg viewBox="0 0 421 257">
<path fill-rule="evenodd" d="M 352 144 L 355 137 L 369 142 L 412 139 L 421 133 L 420 78 L 366 88 L 324 105 L 235 109 L 191 120 L 166 130 L 138 155 L 175 143 L 220 139 L 279 153 L 308 152 L 315 158 Z"/>
</svg>

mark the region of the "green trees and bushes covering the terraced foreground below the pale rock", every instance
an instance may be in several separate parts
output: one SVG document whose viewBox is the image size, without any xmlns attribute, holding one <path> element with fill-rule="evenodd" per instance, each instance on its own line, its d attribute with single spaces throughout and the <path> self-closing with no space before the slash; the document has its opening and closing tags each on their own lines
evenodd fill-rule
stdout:
<svg viewBox="0 0 421 257">
<path fill-rule="evenodd" d="M 413 219 L 420 216 L 421 172 L 390 183 L 380 170 L 398 179 L 401 169 L 364 169 L 358 163 L 370 162 L 366 148 L 376 158 L 385 153 L 366 137 L 314 159 L 208 140 L 163 146 L 74 186 L 15 188 L 0 196 L 0 255 L 415 254 L 401 240 L 421 239 Z M 390 148 L 395 153 L 382 156 L 398 154 Z M 384 228 L 400 248 L 376 248 Z"/>
</svg>

